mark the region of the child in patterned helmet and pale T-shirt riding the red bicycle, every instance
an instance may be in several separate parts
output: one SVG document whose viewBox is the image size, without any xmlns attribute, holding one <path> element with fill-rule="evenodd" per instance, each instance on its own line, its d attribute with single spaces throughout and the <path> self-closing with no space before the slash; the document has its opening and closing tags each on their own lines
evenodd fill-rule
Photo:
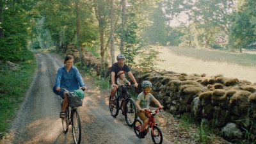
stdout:
<svg viewBox="0 0 256 144">
<path fill-rule="evenodd" d="M 137 115 L 143 122 L 138 137 L 145 138 L 147 132 L 144 131 L 144 129 L 148 125 L 148 118 L 150 118 L 150 114 L 145 111 L 145 109 L 149 108 L 151 101 L 153 101 L 161 109 L 163 109 L 164 106 L 162 106 L 160 102 L 150 93 L 152 90 L 152 83 L 150 81 L 143 81 L 141 83 L 141 88 L 143 92 L 141 92 L 136 99 L 136 106 L 138 109 Z"/>
</svg>

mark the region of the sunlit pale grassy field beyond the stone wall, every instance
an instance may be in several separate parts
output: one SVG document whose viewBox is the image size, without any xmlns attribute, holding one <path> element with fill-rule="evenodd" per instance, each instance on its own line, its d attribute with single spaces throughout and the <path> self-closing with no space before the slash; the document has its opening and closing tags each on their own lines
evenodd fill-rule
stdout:
<svg viewBox="0 0 256 144">
<path fill-rule="evenodd" d="M 222 74 L 256 83 L 256 54 L 161 47 L 157 68 L 186 74 Z"/>
</svg>

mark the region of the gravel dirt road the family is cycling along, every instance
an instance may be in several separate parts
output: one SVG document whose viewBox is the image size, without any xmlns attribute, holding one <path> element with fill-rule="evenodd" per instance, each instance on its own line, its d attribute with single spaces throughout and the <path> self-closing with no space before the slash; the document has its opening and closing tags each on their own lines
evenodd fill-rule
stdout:
<svg viewBox="0 0 256 144">
<path fill-rule="evenodd" d="M 26 99 L 12 122 L 12 128 L 3 144 L 20 143 L 74 143 L 72 132 L 62 130 L 60 98 L 52 92 L 58 67 L 63 61 L 49 53 L 36 54 L 38 68 Z M 83 107 L 80 108 L 82 121 L 81 143 L 152 143 L 150 134 L 140 140 L 132 127 L 125 123 L 124 116 L 116 118 L 108 109 L 108 92 L 94 90 L 90 80 L 84 78 L 88 86 Z M 164 139 L 164 143 L 170 143 Z"/>
</svg>

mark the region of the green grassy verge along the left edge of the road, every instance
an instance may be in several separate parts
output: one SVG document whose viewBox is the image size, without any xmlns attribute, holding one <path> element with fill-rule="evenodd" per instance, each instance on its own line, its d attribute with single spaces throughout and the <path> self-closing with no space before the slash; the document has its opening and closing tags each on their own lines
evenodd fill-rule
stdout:
<svg viewBox="0 0 256 144">
<path fill-rule="evenodd" d="M 32 52 L 26 52 L 22 57 L 24 60 L 17 63 L 19 67 L 15 70 L 5 63 L 0 65 L 0 133 L 8 129 L 15 117 L 15 110 L 23 102 L 36 70 L 36 60 Z"/>
</svg>

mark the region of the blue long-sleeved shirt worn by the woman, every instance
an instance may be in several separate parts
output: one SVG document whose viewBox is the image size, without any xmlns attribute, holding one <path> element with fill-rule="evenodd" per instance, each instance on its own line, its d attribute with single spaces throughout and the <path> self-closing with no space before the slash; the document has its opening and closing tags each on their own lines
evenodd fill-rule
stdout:
<svg viewBox="0 0 256 144">
<path fill-rule="evenodd" d="M 65 88 L 69 92 L 74 92 L 74 90 L 79 89 L 80 87 L 85 86 L 77 67 L 70 68 L 69 72 L 67 72 L 65 65 L 58 69 L 58 73 L 56 75 L 56 81 L 54 84 L 55 88 Z"/>
</svg>

